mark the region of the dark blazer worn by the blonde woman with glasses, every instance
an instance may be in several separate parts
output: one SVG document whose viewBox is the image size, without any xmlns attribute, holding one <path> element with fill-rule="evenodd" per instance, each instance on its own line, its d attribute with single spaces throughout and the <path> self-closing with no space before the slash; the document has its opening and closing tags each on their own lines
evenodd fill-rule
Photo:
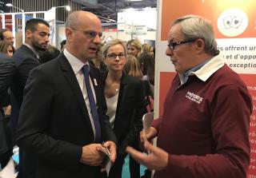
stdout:
<svg viewBox="0 0 256 178">
<path fill-rule="evenodd" d="M 104 84 L 106 76 L 107 72 L 102 74 Z M 142 130 L 142 116 L 146 113 L 143 101 L 142 81 L 122 73 L 114 120 L 114 133 L 118 139 L 119 155 L 126 153 L 127 145 L 138 144 L 138 136 Z"/>
</svg>

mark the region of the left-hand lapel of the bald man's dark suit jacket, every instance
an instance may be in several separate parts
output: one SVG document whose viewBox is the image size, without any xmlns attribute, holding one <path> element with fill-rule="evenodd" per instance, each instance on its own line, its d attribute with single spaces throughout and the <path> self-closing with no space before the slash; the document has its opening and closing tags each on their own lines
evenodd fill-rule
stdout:
<svg viewBox="0 0 256 178">
<path fill-rule="evenodd" d="M 86 118 L 87 124 L 91 125 L 88 110 L 86 109 L 86 103 L 82 96 L 82 91 L 80 89 L 78 80 L 75 77 L 74 71 L 71 68 L 69 61 L 67 61 L 63 53 L 60 55 L 60 57 L 58 57 L 58 61 L 59 61 L 59 64 L 61 65 L 63 74 L 66 77 L 66 80 L 69 82 L 72 92 L 74 93 L 75 100 L 78 102 L 78 105 L 82 110 L 83 117 Z"/>
</svg>

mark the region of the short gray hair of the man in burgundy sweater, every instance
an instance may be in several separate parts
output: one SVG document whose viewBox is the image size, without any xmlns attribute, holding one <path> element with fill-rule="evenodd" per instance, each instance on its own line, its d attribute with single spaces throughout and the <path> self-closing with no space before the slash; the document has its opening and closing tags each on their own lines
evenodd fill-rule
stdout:
<svg viewBox="0 0 256 178">
<path fill-rule="evenodd" d="M 197 15 L 186 15 L 176 19 L 171 26 L 181 23 L 183 40 L 189 41 L 197 38 L 205 42 L 205 51 L 211 55 L 218 55 L 217 42 L 214 29 L 206 18 Z"/>
</svg>

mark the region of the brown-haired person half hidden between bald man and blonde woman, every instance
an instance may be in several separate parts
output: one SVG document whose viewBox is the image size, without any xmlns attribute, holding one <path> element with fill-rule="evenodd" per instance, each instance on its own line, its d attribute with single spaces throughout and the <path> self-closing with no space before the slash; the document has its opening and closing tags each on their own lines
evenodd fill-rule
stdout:
<svg viewBox="0 0 256 178">
<path fill-rule="evenodd" d="M 101 43 L 101 45 L 98 46 L 96 57 L 91 59 L 89 61 L 89 64 L 98 68 L 101 72 L 106 72 L 106 64 L 104 63 L 103 57 L 102 57 L 102 45 L 103 43 Z"/>
</svg>

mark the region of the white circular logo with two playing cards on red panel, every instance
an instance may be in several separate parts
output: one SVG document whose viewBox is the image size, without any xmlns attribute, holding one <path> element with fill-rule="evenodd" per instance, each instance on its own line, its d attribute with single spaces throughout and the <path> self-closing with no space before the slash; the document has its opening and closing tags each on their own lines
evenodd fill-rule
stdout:
<svg viewBox="0 0 256 178">
<path fill-rule="evenodd" d="M 218 17 L 218 30 L 226 37 L 235 37 L 242 34 L 247 26 L 248 18 L 242 10 L 225 10 Z"/>
</svg>

